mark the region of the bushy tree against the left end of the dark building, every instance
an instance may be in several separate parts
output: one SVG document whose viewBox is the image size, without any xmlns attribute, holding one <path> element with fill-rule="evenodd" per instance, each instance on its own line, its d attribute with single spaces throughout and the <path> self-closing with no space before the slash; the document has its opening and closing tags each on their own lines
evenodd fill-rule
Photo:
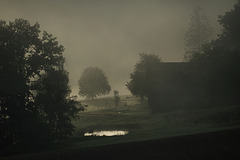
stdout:
<svg viewBox="0 0 240 160">
<path fill-rule="evenodd" d="M 143 99 L 149 95 L 149 74 L 161 62 L 161 58 L 155 54 L 141 53 L 139 55 L 140 60 L 130 74 L 131 80 L 126 86 L 133 95 Z"/>
</svg>

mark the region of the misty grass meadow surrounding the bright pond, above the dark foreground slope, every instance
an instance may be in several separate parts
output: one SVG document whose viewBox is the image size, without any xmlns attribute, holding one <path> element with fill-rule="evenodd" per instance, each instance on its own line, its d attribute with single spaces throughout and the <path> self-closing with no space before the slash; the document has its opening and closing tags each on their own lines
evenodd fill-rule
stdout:
<svg viewBox="0 0 240 160">
<path fill-rule="evenodd" d="M 76 127 L 73 136 L 60 146 L 34 154 L 47 155 L 66 150 L 83 152 L 94 147 L 240 128 L 240 106 L 179 109 L 152 114 L 146 100 L 140 101 L 133 96 L 121 96 L 117 107 L 111 97 L 83 100 L 82 104 L 88 107 L 79 113 L 79 119 L 73 121 Z M 83 136 L 85 132 L 101 130 L 126 130 L 129 134 L 114 137 Z"/>
</svg>

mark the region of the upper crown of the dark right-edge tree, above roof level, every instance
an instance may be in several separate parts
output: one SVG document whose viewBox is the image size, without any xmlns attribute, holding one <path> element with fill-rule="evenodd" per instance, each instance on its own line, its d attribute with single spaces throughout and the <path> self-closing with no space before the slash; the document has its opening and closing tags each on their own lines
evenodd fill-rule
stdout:
<svg viewBox="0 0 240 160">
<path fill-rule="evenodd" d="M 203 46 L 202 52 L 197 52 L 191 62 L 227 63 L 239 61 L 240 55 L 240 1 L 234 8 L 219 16 L 218 22 L 223 26 L 223 32 L 216 40 Z M 231 61 L 231 62 L 230 62 Z M 235 63 L 237 64 L 237 63 Z"/>
</svg>

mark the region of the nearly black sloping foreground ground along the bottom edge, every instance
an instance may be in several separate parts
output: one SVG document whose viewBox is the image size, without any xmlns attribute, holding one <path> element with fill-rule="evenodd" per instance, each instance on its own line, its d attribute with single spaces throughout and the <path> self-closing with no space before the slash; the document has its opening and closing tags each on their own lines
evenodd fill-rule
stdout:
<svg viewBox="0 0 240 160">
<path fill-rule="evenodd" d="M 120 143 L 4 160 L 238 160 L 240 129 Z"/>
</svg>

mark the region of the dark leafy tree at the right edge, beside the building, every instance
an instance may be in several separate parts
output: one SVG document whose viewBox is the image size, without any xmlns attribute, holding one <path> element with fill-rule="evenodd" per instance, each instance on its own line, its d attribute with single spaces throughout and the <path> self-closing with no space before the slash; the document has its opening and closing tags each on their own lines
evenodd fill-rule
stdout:
<svg viewBox="0 0 240 160">
<path fill-rule="evenodd" d="M 240 103 L 240 0 L 234 8 L 219 16 L 223 32 L 218 38 L 195 54 L 191 62 L 207 66 L 209 93 L 217 95 L 217 101 L 228 99 L 227 103 Z M 219 98 L 219 96 L 223 98 Z"/>
</svg>

